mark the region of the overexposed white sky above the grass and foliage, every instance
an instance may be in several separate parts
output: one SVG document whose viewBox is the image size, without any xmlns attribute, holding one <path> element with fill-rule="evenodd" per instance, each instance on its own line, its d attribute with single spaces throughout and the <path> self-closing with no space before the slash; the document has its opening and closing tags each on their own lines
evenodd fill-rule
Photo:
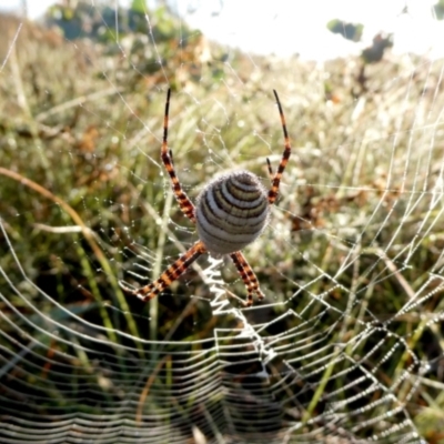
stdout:
<svg viewBox="0 0 444 444">
<path fill-rule="evenodd" d="M 93 3 L 93 0 L 91 0 Z M 130 0 L 121 1 L 129 3 Z M 174 3 L 173 0 L 170 0 Z M 432 17 L 436 0 L 175 0 L 182 17 L 205 36 L 256 53 L 325 59 L 357 53 L 360 47 L 325 29 L 331 19 L 361 22 L 364 42 L 380 31 L 395 33 L 396 52 L 444 57 L 444 21 Z M 28 0 L 29 17 L 36 18 L 53 0 Z M 21 0 L 0 0 L 0 10 L 18 10 Z M 149 0 L 149 6 L 155 1 Z M 404 7 L 408 14 L 402 14 Z"/>
</svg>

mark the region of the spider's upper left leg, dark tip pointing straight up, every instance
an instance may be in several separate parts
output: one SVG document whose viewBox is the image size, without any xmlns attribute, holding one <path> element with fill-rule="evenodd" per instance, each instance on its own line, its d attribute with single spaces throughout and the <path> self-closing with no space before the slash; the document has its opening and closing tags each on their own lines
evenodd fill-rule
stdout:
<svg viewBox="0 0 444 444">
<path fill-rule="evenodd" d="M 195 223 L 194 204 L 191 202 L 186 193 L 182 190 L 182 185 L 180 184 L 178 175 L 175 174 L 172 152 L 168 148 L 168 122 L 170 115 L 170 97 L 171 97 L 171 89 L 169 89 L 167 93 L 165 114 L 163 118 L 163 141 L 161 150 L 162 162 L 165 165 L 168 174 L 170 175 L 171 185 L 173 188 L 175 199 L 179 203 L 180 209 L 182 210 L 182 213 L 188 219 L 190 219 L 192 222 Z"/>
</svg>

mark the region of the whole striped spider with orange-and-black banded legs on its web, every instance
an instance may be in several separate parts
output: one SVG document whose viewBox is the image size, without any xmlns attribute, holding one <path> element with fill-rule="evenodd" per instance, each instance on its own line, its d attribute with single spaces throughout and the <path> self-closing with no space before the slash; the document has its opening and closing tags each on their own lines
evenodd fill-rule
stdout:
<svg viewBox="0 0 444 444">
<path fill-rule="evenodd" d="M 135 290 L 120 281 L 119 284 L 123 291 L 137 295 L 144 302 L 150 301 L 178 280 L 201 254 L 208 252 L 214 258 L 230 255 L 246 287 L 246 306 L 253 304 L 254 294 L 259 300 L 264 297 L 258 278 L 241 250 L 259 238 L 265 229 L 270 206 L 278 198 L 281 176 L 291 154 L 284 113 L 276 91 L 273 90 L 273 93 L 284 133 L 284 152 L 275 174 L 273 174 L 270 160 L 266 159 L 271 189 L 268 191 L 255 174 L 249 171 L 238 171 L 206 184 L 194 206 L 179 182 L 174 171 L 172 151 L 168 148 L 171 97 L 171 90 L 168 90 L 163 119 L 162 162 L 170 175 L 172 189 L 182 213 L 196 225 L 199 240 L 157 281 Z"/>
</svg>

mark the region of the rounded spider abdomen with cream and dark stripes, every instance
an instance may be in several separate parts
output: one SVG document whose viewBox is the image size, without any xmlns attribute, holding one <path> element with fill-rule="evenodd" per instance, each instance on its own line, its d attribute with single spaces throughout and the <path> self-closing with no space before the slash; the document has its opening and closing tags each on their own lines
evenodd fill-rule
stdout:
<svg viewBox="0 0 444 444">
<path fill-rule="evenodd" d="M 198 198 L 199 238 L 213 256 L 234 253 L 259 238 L 269 210 L 268 191 L 256 175 L 238 171 L 215 179 Z"/>
</svg>

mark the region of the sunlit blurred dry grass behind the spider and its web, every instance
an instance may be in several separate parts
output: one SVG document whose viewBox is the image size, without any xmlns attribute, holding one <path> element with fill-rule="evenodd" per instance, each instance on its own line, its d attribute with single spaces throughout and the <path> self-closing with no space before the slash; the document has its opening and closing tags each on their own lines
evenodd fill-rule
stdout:
<svg viewBox="0 0 444 444">
<path fill-rule="evenodd" d="M 2 20 L 12 30 L 11 41 L 18 22 Z M 195 272 L 172 286 L 171 294 L 180 297 L 167 292 L 150 307 L 123 295 L 117 280 L 135 260 L 141 261 L 134 258 L 141 252 L 148 258 L 145 274 L 157 276 L 194 239 L 168 191 L 160 164 L 167 80 L 173 88 L 170 144 L 192 198 L 210 178 L 233 167 L 249 169 L 266 182 L 265 159 L 275 168 L 283 145 L 272 98 L 276 89 L 294 152 L 271 229 L 245 254 L 270 302 L 286 301 L 286 305 L 260 311 L 265 316 L 261 319 L 253 312 L 250 320 L 270 323 L 264 331 L 270 334 L 296 329 L 301 319 L 316 320 L 324 332 L 336 325 L 324 336 L 334 344 L 363 334 L 371 322 L 394 319 L 389 330 L 403 339 L 405 349 L 392 352 L 391 346 L 396 349 L 398 343 L 382 330 L 355 346 L 350 342 L 347 351 L 365 356 L 384 339 L 386 346 L 374 352 L 369 365 L 392 354 L 377 365 L 377 380 L 389 386 L 411 365 L 410 351 L 423 361 L 442 356 L 442 349 L 441 354 L 435 349 L 442 344 L 436 323 L 442 284 L 431 279 L 442 271 L 444 245 L 437 204 L 442 191 L 433 192 L 438 190 L 443 170 L 440 63 L 411 58 L 413 70 L 405 59 L 391 56 L 367 67 L 367 91 L 362 91 L 355 77 L 359 60 L 316 64 L 255 58 L 252 63 L 233 51 L 226 63 L 223 51 L 202 39 L 196 41 L 209 44 L 214 54 L 211 62 L 185 59 L 198 43 L 179 56 L 168 43 L 160 44 L 159 56 L 169 54 L 164 75 L 154 62 L 142 64 L 144 47 L 137 40 L 122 59 L 109 47 L 88 41 L 73 44 L 30 24 L 23 30 L 16 44 L 0 52 L 6 60 L 12 50 L 0 82 L 0 214 L 29 281 L 22 279 L 4 243 L 0 261 L 41 313 L 68 322 L 54 307 L 52 301 L 57 301 L 81 319 L 104 326 L 108 340 L 132 346 L 141 357 L 145 347 L 155 345 L 138 337 L 183 341 L 184 345 L 171 345 L 182 351 L 189 346 L 185 341 L 211 340 L 215 327 L 235 327 L 231 316 L 216 319 L 206 302 L 190 299 L 212 296 Z M 151 53 L 149 60 L 155 56 Z M 180 57 L 186 60 L 182 64 Z M 224 268 L 223 275 L 230 290 L 243 297 L 234 269 Z M 1 285 L 9 286 L 6 281 Z M 418 309 L 404 310 L 412 295 L 421 299 Z M 21 313 L 32 315 L 23 299 L 11 293 L 9 300 Z M 322 300 L 332 310 L 320 317 L 324 306 L 317 302 Z M 2 303 L 1 309 L 20 322 L 11 307 Z M 279 325 L 271 322 L 282 310 L 293 310 L 300 317 L 285 317 Z M 73 330 L 83 329 L 69 322 Z M 2 321 L 1 329 L 18 336 L 12 324 Z M 37 339 L 48 342 L 43 333 Z M 61 374 L 77 369 L 79 384 L 73 385 L 81 389 L 82 377 L 88 380 L 95 367 L 94 354 L 77 347 L 75 335 L 64 340 L 49 344 L 49 350 L 77 356 L 75 364 L 70 362 L 72 367 L 57 365 Z M 122 375 L 133 374 L 122 349 L 107 349 L 107 353 L 121 365 Z M 319 357 L 329 353 L 320 351 Z M 301 365 L 313 362 L 303 354 L 300 360 Z M 321 391 L 312 397 L 316 402 L 312 401 L 309 413 L 316 412 L 322 395 L 341 383 L 331 377 L 332 371 L 341 370 L 332 362 L 324 376 L 317 376 Z M 163 355 L 152 377 L 168 365 L 172 364 Z M 143 400 L 150 396 L 152 383 L 147 383 Z M 427 417 L 441 421 L 440 372 L 427 375 L 418 393 L 407 386 L 408 381 L 404 385 L 400 401 L 413 416 L 420 412 L 418 427 L 433 437 L 442 427 L 424 424 Z M 59 405 L 62 390 L 57 383 L 51 390 L 54 402 L 48 411 L 64 412 Z M 103 398 L 112 402 L 114 397 Z"/>
</svg>

